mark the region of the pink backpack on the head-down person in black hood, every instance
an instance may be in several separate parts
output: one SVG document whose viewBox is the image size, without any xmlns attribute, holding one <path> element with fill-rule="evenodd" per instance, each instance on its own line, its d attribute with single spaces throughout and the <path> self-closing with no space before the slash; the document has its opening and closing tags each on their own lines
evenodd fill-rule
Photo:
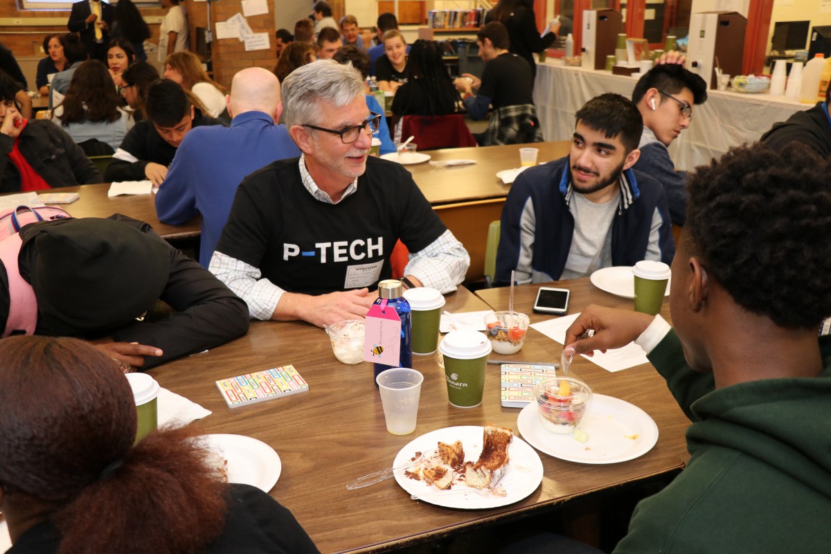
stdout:
<svg viewBox="0 0 831 554">
<path fill-rule="evenodd" d="M 2 337 L 11 335 L 13 331 L 33 335 L 37 327 L 35 292 L 32 285 L 21 277 L 17 267 L 17 256 L 22 246 L 18 231 L 28 223 L 71 217 L 66 210 L 54 206 L 18 206 L 0 212 L 0 262 L 6 267 L 9 297 L 8 318 Z"/>
</svg>

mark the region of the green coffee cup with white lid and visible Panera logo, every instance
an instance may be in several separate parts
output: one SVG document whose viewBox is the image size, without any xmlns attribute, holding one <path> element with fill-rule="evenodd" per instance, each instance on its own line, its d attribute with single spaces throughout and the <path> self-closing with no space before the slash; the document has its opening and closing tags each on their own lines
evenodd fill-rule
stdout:
<svg viewBox="0 0 831 554">
<path fill-rule="evenodd" d="M 479 331 L 450 331 L 439 351 L 445 358 L 445 381 L 450 405 L 473 408 L 482 404 L 484 371 L 490 341 Z"/>
</svg>

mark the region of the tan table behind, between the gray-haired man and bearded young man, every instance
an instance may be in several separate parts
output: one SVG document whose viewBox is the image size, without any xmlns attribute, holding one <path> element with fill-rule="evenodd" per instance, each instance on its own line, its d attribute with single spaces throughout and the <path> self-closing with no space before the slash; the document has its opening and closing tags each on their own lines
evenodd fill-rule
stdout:
<svg viewBox="0 0 831 554">
<path fill-rule="evenodd" d="M 475 159 L 476 164 L 436 168 L 429 163 L 407 165 L 418 188 L 432 204 L 447 228 L 470 253 L 466 282 L 482 279 L 484 250 L 490 222 L 502 214 L 510 190 L 496 176 L 504 169 L 519 167 L 519 149 L 539 149 L 538 162 L 548 162 L 568 154 L 568 140 L 532 145 L 483 146 L 428 150 L 430 161 Z"/>
</svg>

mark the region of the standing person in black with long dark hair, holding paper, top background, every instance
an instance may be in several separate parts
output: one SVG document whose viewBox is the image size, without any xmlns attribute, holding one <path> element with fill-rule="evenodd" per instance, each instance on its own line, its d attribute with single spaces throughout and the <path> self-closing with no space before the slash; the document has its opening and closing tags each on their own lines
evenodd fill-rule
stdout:
<svg viewBox="0 0 831 554">
<path fill-rule="evenodd" d="M 524 57 L 531 66 L 531 75 L 537 76 L 534 53 L 545 50 L 557 40 L 560 24 L 549 24 L 545 34 L 540 37 L 533 3 L 527 0 L 499 0 L 484 17 L 485 23 L 494 21 L 502 23 L 508 29 L 508 51 Z"/>
</svg>

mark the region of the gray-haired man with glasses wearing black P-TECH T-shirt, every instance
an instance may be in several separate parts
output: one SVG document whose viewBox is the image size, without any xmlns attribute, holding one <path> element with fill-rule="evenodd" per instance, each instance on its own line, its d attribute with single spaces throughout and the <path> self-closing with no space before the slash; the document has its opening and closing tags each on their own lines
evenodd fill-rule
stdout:
<svg viewBox="0 0 831 554">
<path fill-rule="evenodd" d="M 401 165 L 370 157 L 382 117 L 351 65 L 319 60 L 283 81 L 283 117 L 300 158 L 248 175 L 210 271 L 258 319 L 317 326 L 361 319 L 391 277 L 396 241 L 409 249 L 405 287 L 454 291 L 470 257 Z"/>
</svg>

